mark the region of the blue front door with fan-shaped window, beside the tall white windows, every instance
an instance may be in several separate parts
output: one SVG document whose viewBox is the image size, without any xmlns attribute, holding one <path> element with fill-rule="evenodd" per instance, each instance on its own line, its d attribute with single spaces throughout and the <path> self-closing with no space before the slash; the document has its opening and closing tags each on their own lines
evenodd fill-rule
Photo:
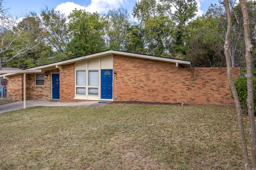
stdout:
<svg viewBox="0 0 256 170">
<path fill-rule="evenodd" d="M 112 99 L 113 98 L 113 79 L 112 70 L 101 70 L 101 98 Z"/>
</svg>

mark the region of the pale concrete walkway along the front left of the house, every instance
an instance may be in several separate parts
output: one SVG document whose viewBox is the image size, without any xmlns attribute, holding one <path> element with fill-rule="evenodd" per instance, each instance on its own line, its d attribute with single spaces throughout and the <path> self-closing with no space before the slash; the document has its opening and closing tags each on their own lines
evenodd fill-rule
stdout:
<svg viewBox="0 0 256 170">
<path fill-rule="evenodd" d="M 26 100 L 26 108 L 34 106 L 104 106 L 105 102 L 51 102 L 47 100 Z M 0 113 L 23 109 L 23 101 L 0 105 Z"/>
</svg>

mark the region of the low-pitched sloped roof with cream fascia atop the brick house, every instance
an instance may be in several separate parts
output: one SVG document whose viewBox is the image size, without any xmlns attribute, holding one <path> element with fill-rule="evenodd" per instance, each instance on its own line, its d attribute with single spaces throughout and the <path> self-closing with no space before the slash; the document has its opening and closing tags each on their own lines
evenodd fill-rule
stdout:
<svg viewBox="0 0 256 170">
<path fill-rule="evenodd" d="M 191 61 L 172 59 L 172 58 L 166 58 L 166 57 L 157 57 L 157 56 L 137 54 L 137 53 L 130 53 L 130 52 L 124 52 L 124 51 L 107 50 L 107 51 L 102 51 L 99 53 L 86 55 L 83 57 L 77 57 L 74 59 L 68 59 L 68 60 L 59 61 L 56 63 L 46 64 L 46 65 L 42 65 L 42 66 L 36 66 L 36 67 L 28 68 L 25 70 L 27 70 L 27 71 L 28 70 L 32 71 L 32 70 L 37 70 L 37 69 L 41 69 L 42 71 L 50 70 L 50 69 L 54 69 L 54 68 L 59 68 L 59 66 L 62 66 L 64 64 L 76 63 L 78 61 L 86 61 L 89 59 L 96 59 L 96 58 L 105 57 L 105 56 L 109 56 L 109 55 L 123 55 L 123 56 L 128 56 L 128 57 L 136 57 L 136 58 L 141 58 L 141 59 L 163 61 L 163 62 L 168 62 L 168 63 L 176 63 L 176 64 L 178 63 L 184 67 L 191 67 Z M 1 71 L 0 71 L 0 74 L 1 74 Z M 2 74 L 0 76 L 10 76 L 12 74 L 14 74 L 14 73 Z"/>
</svg>

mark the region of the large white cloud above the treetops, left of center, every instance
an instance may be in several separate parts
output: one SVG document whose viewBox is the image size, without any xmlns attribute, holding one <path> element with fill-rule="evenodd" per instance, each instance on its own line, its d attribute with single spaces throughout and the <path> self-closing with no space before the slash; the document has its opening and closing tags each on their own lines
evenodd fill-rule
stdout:
<svg viewBox="0 0 256 170">
<path fill-rule="evenodd" d="M 88 6 L 81 6 L 74 2 L 65 2 L 58 5 L 55 10 L 58 10 L 68 16 L 75 8 L 78 10 L 86 10 L 87 12 L 98 12 L 99 14 L 106 13 L 113 8 L 119 8 L 125 5 L 126 0 L 91 0 Z"/>
</svg>

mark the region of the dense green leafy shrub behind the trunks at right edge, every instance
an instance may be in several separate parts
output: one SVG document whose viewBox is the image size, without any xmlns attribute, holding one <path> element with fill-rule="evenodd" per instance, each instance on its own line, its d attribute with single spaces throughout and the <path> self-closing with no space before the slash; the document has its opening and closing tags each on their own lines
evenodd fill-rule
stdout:
<svg viewBox="0 0 256 170">
<path fill-rule="evenodd" d="M 235 80 L 236 91 L 240 104 L 247 108 L 247 77 L 240 77 Z M 254 99 L 254 113 L 256 113 L 256 77 L 252 78 L 253 83 L 253 99 Z M 233 95 L 232 95 L 233 97 Z"/>
</svg>

